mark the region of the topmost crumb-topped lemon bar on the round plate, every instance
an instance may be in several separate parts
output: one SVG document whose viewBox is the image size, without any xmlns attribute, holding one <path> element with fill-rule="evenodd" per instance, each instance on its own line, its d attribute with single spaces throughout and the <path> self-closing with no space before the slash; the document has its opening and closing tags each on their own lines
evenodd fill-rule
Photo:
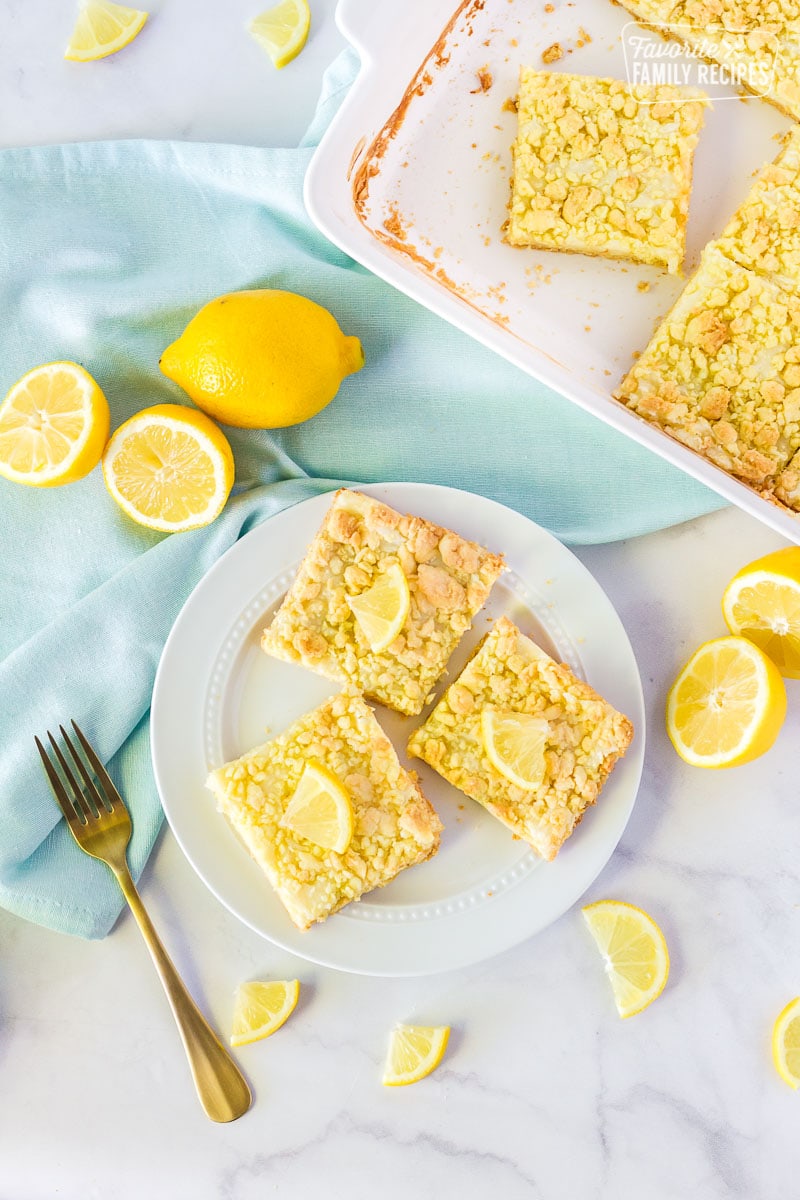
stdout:
<svg viewBox="0 0 800 1200">
<path fill-rule="evenodd" d="M 503 565 L 450 529 L 342 488 L 261 647 L 398 713 L 420 713 Z M 354 607 L 387 582 L 399 584 L 407 608 L 390 644 L 375 647 Z"/>
</svg>

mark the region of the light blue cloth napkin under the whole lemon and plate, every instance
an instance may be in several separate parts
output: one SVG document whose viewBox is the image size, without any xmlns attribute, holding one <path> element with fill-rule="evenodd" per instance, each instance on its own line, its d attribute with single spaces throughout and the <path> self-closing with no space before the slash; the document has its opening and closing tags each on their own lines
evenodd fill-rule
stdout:
<svg viewBox="0 0 800 1200">
<path fill-rule="evenodd" d="M 295 150 L 0 152 L 0 394 L 38 362 L 74 359 L 106 391 L 113 427 L 184 401 L 158 355 L 203 304 L 236 288 L 313 298 L 367 360 L 313 421 L 230 431 L 235 493 L 207 529 L 148 533 L 116 509 L 100 469 L 58 491 L 0 479 L 0 904 L 52 929 L 102 937 L 121 898 L 58 818 L 34 734 L 82 725 L 133 811 L 138 875 L 162 818 L 148 737 L 162 646 L 201 575 L 259 521 L 341 480 L 451 484 L 571 542 L 628 538 L 721 503 L 312 228 L 303 173 L 356 70 L 349 52 L 331 67 Z"/>
</svg>

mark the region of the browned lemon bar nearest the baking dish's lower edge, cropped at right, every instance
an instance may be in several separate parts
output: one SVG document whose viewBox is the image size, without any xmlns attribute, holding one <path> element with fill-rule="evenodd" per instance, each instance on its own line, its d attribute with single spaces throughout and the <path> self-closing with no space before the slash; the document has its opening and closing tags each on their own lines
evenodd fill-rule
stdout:
<svg viewBox="0 0 800 1200">
<path fill-rule="evenodd" d="M 710 462 L 800 511 L 793 494 L 800 450 L 798 294 L 710 244 L 616 395 Z"/>
</svg>

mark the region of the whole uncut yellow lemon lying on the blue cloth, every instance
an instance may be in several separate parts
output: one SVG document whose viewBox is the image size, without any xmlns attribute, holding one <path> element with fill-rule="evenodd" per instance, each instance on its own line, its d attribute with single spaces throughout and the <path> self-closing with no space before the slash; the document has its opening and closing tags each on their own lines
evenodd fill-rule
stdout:
<svg viewBox="0 0 800 1200">
<path fill-rule="evenodd" d="M 327 308 L 294 292 L 255 288 L 206 304 L 161 356 L 198 408 L 249 430 L 297 425 L 363 366 Z"/>
</svg>

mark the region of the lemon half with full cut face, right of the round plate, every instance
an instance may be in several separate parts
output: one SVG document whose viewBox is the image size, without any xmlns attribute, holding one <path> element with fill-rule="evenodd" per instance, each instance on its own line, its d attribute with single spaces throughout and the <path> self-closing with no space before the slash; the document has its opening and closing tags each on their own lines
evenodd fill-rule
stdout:
<svg viewBox="0 0 800 1200">
<path fill-rule="evenodd" d="M 781 673 L 744 637 L 694 652 L 667 698 L 667 733 L 694 767 L 738 767 L 769 750 L 786 716 Z"/>
</svg>

